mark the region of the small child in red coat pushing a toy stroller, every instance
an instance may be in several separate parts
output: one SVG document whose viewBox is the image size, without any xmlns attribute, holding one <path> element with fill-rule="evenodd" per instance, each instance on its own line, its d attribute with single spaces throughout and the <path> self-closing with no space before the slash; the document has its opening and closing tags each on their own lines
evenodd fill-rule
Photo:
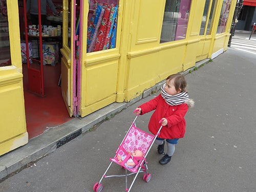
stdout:
<svg viewBox="0 0 256 192">
<path fill-rule="evenodd" d="M 155 110 L 148 123 L 148 129 L 154 135 L 157 134 L 160 128 L 159 121 L 162 120 L 162 130 L 155 140 L 158 144 L 158 153 L 163 155 L 166 140 L 167 153 L 159 161 L 162 165 L 170 161 L 179 138 L 184 137 L 186 126 L 184 116 L 188 108 L 194 106 L 194 101 L 188 98 L 185 88 L 186 80 L 182 75 L 170 75 L 161 88 L 161 94 L 136 109 L 136 113 L 140 115 Z"/>
</svg>

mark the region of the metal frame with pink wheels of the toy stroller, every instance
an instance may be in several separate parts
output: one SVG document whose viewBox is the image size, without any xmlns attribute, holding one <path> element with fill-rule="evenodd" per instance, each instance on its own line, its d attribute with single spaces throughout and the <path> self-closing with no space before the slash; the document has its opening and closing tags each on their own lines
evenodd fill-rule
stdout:
<svg viewBox="0 0 256 192">
<path fill-rule="evenodd" d="M 135 112 L 136 112 L 136 111 L 134 111 L 134 113 L 135 113 Z M 120 143 L 119 147 L 117 148 L 115 157 L 117 156 L 118 151 L 120 150 L 120 148 L 121 148 L 121 146 L 122 146 L 124 140 L 127 138 L 128 134 L 130 133 L 130 130 L 131 130 L 132 128 L 136 128 L 137 130 L 139 130 L 139 131 L 141 131 L 141 132 L 144 132 L 144 131 L 138 129 L 137 126 L 136 126 L 136 124 L 135 124 L 135 121 L 137 120 L 138 116 L 139 116 L 139 115 L 136 115 L 135 119 L 133 120 L 133 122 L 132 122 L 132 124 L 131 124 L 131 126 L 130 126 L 130 128 L 129 128 L 129 130 L 128 130 L 127 133 L 125 134 L 125 137 L 123 138 L 122 142 Z M 159 121 L 159 123 L 161 123 L 161 122 L 162 122 L 162 120 Z M 151 134 L 148 134 L 148 133 L 144 132 L 145 134 L 152 136 L 152 137 L 153 137 L 153 140 L 151 141 L 150 146 L 147 148 L 145 155 L 143 155 L 143 158 L 142 158 L 142 159 L 139 161 L 139 163 L 135 166 L 134 169 L 138 169 L 137 172 L 136 172 L 136 170 L 131 169 L 131 168 L 128 168 L 128 167 L 126 167 L 125 165 L 121 165 L 121 166 L 125 169 L 125 175 L 109 175 L 109 176 L 106 176 L 106 173 L 107 173 L 108 170 L 110 169 L 112 163 L 115 162 L 114 159 L 111 159 L 111 158 L 110 158 L 110 160 L 111 160 L 110 165 L 108 166 L 108 168 L 106 168 L 106 170 L 105 170 L 104 174 L 102 175 L 100 181 L 99 181 L 99 182 L 96 182 L 96 183 L 94 184 L 93 190 L 96 191 L 96 192 L 102 191 L 103 185 L 101 184 L 101 182 L 102 182 L 102 180 L 103 180 L 104 178 L 125 177 L 125 190 L 129 192 L 129 191 L 131 190 L 131 188 L 132 188 L 132 186 L 133 186 L 133 184 L 134 184 L 134 182 L 135 182 L 135 180 L 136 180 L 138 174 L 139 174 L 139 173 L 143 173 L 143 172 L 145 172 L 145 174 L 144 174 L 144 176 L 143 176 L 143 180 L 144 180 L 145 182 L 149 182 L 149 181 L 151 180 L 151 174 L 149 174 L 149 173 L 147 172 L 148 168 L 147 168 L 147 161 L 146 161 L 145 158 L 146 158 L 147 154 L 149 153 L 149 151 L 151 150 L 151 147 L 153 146 L 153 144 L 154 144 L 154 142 L 155 142 L 157 136 L 160 134 L 161 129 L 162 129 L 162 125 L 160 126 L 160 128 L 159 128 L 159 130 L 158 130 L 158 132 L 157 132 L 156 135 L 151 135 Z M 116 163 L 117 163 L 117 162 L 116 162 Z M 119 164 L 119 163 L 117 163 L 117 164 Z M 119 164 L 119 165 L 120 165 L 120 164 Z M 127 173 L 127 169 L 128 169 L 131 173 Z M 142 170 L 141 170 L 141 169 L 142 169 Z M 134 177 L 134 179 L 133 179 L 133 181 L 132 181 L 130 187 L 128 188 L 128 187 L 127 187 L 127 185 L 128 185 L 128 184 L 127 184 L 127 178 L 128 178 L 128 176 L 131 176 L 131 175 L 134 175 L 134 174 L 136 174 L 136 175 L 135 175 L 135 177 Z"/>
</svg>

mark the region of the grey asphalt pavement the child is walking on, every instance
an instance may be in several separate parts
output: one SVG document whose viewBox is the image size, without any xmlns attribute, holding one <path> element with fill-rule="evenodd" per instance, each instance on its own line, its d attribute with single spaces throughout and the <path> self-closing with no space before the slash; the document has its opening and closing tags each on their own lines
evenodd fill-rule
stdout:
<svg viewBox="0 0 256 192">
<path fill-rule="evenodd" d="M 187 89 L 195 107 L 185 116 L 185 137 L 166 165 L 159 164 L 162 156 L 153 145 L 146 158 L 152 179 L 146 183 L 139 174 L 131 191 L 256 191 L 255 72 L 256 54 L 231 46 L 188 73 Z M 4 180 L 0 191 L 93 191 L 135 118 L 133 111 L 158 94 L 129 106 Z M 136 121 L 146 132 L 151 114 Z M 123 172 L 117 164 L 109 170 L 113 175 Z M 106 178 L 102 184 L 102 191 L 125 191 L 124 178 Z"/>
</svg>

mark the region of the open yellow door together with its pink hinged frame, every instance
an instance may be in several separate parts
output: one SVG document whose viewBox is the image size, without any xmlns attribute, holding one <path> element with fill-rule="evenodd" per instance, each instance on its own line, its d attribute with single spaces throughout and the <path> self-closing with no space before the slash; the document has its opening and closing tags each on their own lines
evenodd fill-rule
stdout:
<svg viewBox="0 0 256 192">
<path fill-rule="evenodd" d="M 82 0 L 81 0 L 82 2 Z M 81 8 L 80 8 L 81 7 Z M 78 115 L 79 30 L 82 3 L 63 1 L 63 48 L 61 58 L 61 92 L 70 116 Z"/>
</svg>

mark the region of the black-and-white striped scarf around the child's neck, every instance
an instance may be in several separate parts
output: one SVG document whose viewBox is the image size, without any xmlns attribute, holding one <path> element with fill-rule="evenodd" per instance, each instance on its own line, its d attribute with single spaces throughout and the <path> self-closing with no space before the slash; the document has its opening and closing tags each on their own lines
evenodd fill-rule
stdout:
<svg viewBox="0 0 256 192">
<path fill-rule="evenodd" d="M 178 104 L 182 104 L 184 103 L 189 97 L 187 92 L 180 92 L 177 95 L 169 95 L 168 93 L 166 93 L 166 91 L 164 90 L 164 86 L 166 84 L 164 83 L 162 88 L 161 88 L 161 96 L 163 97 L 163 99 L 165 100 L 165 102 L 168 105 L 178 105 Z"/>
</svg>

